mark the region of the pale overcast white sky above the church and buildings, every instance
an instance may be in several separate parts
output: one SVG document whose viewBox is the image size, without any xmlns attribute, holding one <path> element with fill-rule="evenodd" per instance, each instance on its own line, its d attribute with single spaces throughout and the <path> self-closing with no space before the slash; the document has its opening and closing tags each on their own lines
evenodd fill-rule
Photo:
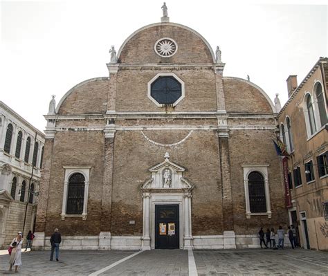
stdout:
<svg viewBox="0 0 328 276">
<path fill-rule="evenodd" d="M 0 100 L 44 131 L 56 102 L 76 84 L 109 75 L 109 48 L 161 21 L 163 1 L 0 0 Z M 247 78 L 273 101 L 286 79 L 302 82 L 327 57 L 327 1 L 167 0 L 170 21 L 220 46 L 224 76 Z"/>
</svg>

